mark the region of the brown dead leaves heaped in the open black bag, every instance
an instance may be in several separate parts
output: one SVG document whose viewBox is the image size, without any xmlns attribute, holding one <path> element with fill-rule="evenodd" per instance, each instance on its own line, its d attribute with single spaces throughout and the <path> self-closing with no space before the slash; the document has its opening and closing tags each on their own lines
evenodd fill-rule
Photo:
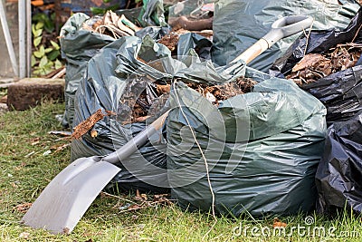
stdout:
<svg viewBox="0 0 362 242">
<path fill-rule="evenodd" d="M 330 48 L 327 53 L 309 53 L 297 63 L 287 75 L 297 84 L 316 82 L 320 78 L 329 76 L 355 66 L 362 53 L 362 44 L 338 44 Z"/>
</svg>

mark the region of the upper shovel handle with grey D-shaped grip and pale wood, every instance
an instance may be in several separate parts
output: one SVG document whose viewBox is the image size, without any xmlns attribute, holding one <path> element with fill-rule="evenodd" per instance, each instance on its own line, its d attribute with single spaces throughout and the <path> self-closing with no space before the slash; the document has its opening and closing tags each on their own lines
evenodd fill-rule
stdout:
<svg viewBox="0 0 362 242">
<path fill-rule="evenodd" d="M 252 44 L 246 51 L 237 56 L 232 63 L 243 60 L 245 63 L 252 62 L 259 54 L 266 51 L 282 38 L 297 34 L 307 29 L 313 23 L 313 18 L 307 15 L 291 15 L 278 19 L 271 24 L 271 31 L 265 34 L 262 39 Z"/>
</svg>

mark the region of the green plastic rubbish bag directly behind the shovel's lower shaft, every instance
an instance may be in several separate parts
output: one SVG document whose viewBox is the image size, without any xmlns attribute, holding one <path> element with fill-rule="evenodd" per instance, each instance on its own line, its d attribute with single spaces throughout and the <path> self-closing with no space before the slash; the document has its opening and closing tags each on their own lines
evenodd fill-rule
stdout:
<svg viewBox="0 0 362 242">
<path fill-rule="evenodd" d="M 129 75 L 147 67 L 138 61 L 138 56 L 142 60 L 152 61 L 168 55 L 170 51 L 167 47 L 155 43 L 149 35 L 142 39 L 127 36 L 103 47 L 90 59 L 75 95 L 74 126 L 98 110 L 103 113 L 112 111 L 114 115 L 106 116 L 94 124 L 92 130 L 97 132 L 96 137 L 91 137 L 89 131 L 80 140 L 72 140 L 71 160 L 107 155 L 145 129 L 145 121 L 123 124 L 124 114 L 129 114 L 132 111 L 129 108 L 132 107 L 124 105 L 120 100 L 128 91 L 128 82 L 131 80 Z M 121 190 L 167 192 L 165 153 L 166 140 L 160 140 L 160 132 L 157 132 L 129 159 L 117 164 L 121 171 L 108 189 L 118 184 Z"/>
</svg>

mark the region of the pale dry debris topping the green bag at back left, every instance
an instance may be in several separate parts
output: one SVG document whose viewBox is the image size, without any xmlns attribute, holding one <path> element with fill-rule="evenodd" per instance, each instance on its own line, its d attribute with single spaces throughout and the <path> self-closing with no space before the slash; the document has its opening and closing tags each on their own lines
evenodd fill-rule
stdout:
<svg viewBox="0 0 362 242">
<path fill-rule="evenodd" d="M 124 15 L 117 15 L 112 11 L 107 11 L 105 15 L 94 24 L 82 25 L 82 28 L 90 32 L 107 34 L 115 39 L 122 36 L 133 36 L 140 30 L 136 24 L 129 21 Z"/>
</svg>

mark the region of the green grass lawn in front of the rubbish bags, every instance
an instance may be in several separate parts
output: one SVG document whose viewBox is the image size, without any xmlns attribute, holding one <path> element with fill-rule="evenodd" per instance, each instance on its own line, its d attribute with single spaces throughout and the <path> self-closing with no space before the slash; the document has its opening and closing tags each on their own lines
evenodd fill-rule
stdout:
<svg viewBox="0 0 362 242">
<path fill-rule="evenodd" d="M 272 236 L 271 218 L 220 217 L 214 224 L 210 214 L 182 211 L 176 205 L 120 210 L 128 200 L 139 203 L 128 194 L 96 198 L 68 236 L 24 227 L 19 223 L 24 213 L 14 208 L 33 202 L 69 164 L 70 147 L 54 150 L 69 141 L 48 134 L 62 130 L 55 115 L 63 109 L 62 104 L 43 103 L 29 111 L 0 114 L 0 241 L 361 241 L 361 218 L 348 210 L 335 218 L 312 215 L 315 223 L 309 227 L 305 215 L 280 218 L 288 225 L 286 235 L 275 230 Z M 52 153 L 44 156 L 47 150 Z M 319 237 L 322 229 L 325 235 Z M 262 231 L 271 236 L 260 236 Z"/>
</svg>

